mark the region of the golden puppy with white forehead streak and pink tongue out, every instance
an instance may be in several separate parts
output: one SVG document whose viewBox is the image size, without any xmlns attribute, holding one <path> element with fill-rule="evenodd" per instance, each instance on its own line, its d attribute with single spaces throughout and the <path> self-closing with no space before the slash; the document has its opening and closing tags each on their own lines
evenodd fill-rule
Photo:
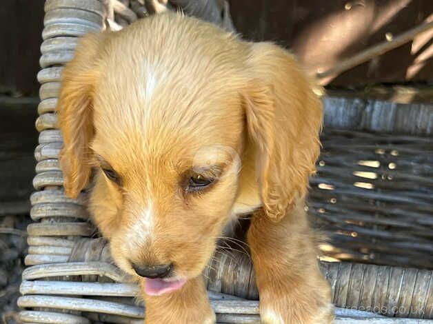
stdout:
<svg viewBox="0 0 433 324">
<path fill-rule="evenodd" d="M 58 112 L 66 193 L 95 168 L 90 211 L 145 323 L 214 323 L 201 272 L 246 213 L 263 322 L 332 321 L 304 211 L 321 103 L 292 55 L 160 14 L 83 37 Z"/>
</svg>

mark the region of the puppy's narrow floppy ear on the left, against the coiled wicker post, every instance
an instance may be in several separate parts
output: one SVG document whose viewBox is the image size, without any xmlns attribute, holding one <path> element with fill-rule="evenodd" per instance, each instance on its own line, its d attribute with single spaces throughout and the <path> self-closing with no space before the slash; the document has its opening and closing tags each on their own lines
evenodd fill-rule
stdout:
<svg viewBox="0 0 433 324">
<path fill-rule="evenodd" d="M 92 97 L 98 74 L 97 57 L 104 35 L 105 32 L 83 37 L 77 45 L 74 59 L 66 64 L 61 76 L 56 108 L 63 133 L 60 165 L 65 192 L 73 198 L 90 179 L 89 143 L 94 134 Z"/>
</svg>

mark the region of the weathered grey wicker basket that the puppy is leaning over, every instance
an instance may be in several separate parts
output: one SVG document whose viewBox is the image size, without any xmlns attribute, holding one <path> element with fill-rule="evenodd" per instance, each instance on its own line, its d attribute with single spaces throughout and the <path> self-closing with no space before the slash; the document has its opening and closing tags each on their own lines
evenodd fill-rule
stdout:
<svg viewBox="0 0 433 324">
<path fill-rule="evenodd" d="M 105 241 L 94 238 L 85 193 L 78 199 L 63 193 L 54 108 L 62 65 L 72 59 L 77 37 L 121 28 L 143 17 L 143 7 L 139 1 L 128 8 L 112 0 L 47 0 L 45 9 L 37 192 L 31 197 L 30 267 L 23 273 L 20 317 L 23 323 L 142 323 L 143 305 L 133 298 L 138 287 L 113 265 Z M 324 148 L 309 206 L 316 227 L 330 236 L 322 246 L 328 257 L 433 268 L 432 130 L 431 106 L 409 111 L 407 105 L 325 99 Z M 250 259 L 233 253 L 215 256 L 218 262 L 205 270 L 217 321 L 259 323 Z M 336 309 L 336 323 L 433 318 L 431 270 L 321 265 L 333 302 L 342 307 Z"/>
</svg>

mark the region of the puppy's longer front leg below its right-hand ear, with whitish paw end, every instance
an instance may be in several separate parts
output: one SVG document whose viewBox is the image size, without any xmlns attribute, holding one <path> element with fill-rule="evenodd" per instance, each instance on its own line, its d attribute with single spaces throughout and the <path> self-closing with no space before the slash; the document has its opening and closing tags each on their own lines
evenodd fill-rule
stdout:
<svg viewBox="0 0 433 324">
<path fill-rule="evenodd" d="M 257 211 L 248 243 L 263 323 L 332 323 L 330 286 L 319 269 L 303 201 L 279 222 Z"/>
</svg>

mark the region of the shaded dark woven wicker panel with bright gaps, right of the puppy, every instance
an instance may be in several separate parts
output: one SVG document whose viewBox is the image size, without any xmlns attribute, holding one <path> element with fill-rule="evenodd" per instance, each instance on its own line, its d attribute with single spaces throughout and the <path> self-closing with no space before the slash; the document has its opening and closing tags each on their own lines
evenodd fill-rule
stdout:
<svg viewBox="0 0 433 324">
<path fill-rule="evenodd" d="M 432 134 L 433 105 L 325 99 L 310 192 L 325 255 L 433 269 Z"/>
</svg>

